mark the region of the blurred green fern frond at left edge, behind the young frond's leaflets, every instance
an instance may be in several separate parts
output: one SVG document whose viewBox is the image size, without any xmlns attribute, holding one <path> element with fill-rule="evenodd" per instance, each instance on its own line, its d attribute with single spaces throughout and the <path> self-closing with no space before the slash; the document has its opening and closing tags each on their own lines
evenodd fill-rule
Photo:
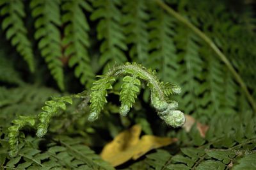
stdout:
<svg viewBox="0 0 256 170">
<path fill-rule="evenodd" d="M 51 88 L 23 84 L 17 88 L 0 86 L 0 125 L 7 128 L 11 121 L 19 114 L 35 115 L 40 111 L 49 96 L 58 95 Z"/>
</svg>

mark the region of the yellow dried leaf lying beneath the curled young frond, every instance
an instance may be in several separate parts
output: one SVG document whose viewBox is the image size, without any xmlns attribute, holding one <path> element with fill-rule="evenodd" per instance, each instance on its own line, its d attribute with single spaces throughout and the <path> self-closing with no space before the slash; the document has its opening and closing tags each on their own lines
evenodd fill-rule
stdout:
<svg viewBox="0 0 256 170">
<path fill-rule="evenodd" d="M 140 125 L 134 125 L 129 130 L 121 132 L 111 143 L 104 146 L 100 156 L 113 166 L 119 166 L 131 158 L 136 160 L 150 150 L 177 141 L 177 139 L 170 137 L 156 137 L 154 135 L 143 135 L 140 139 L 140 134 Z"/>
</svg>

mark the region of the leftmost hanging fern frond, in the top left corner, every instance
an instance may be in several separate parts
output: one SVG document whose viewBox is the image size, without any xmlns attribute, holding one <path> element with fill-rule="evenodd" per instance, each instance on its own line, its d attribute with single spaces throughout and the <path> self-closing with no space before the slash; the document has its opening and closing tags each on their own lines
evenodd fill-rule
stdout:
<svg viewBox="0 0 256 170">
<path fill-rule="evenodd" d="M 6 38 L 11 41 L 13 47 L 16 47 L 20 56 L 28 63 L 29 70 L 35 72 L 35 63 L 31 42 L 28 39 L 28 30 L 22 20 L 26 13 L 22 1 L 1 0 L 0 15 L 4 16 L 2 28 L 6 30 Z"/>
</svg>

